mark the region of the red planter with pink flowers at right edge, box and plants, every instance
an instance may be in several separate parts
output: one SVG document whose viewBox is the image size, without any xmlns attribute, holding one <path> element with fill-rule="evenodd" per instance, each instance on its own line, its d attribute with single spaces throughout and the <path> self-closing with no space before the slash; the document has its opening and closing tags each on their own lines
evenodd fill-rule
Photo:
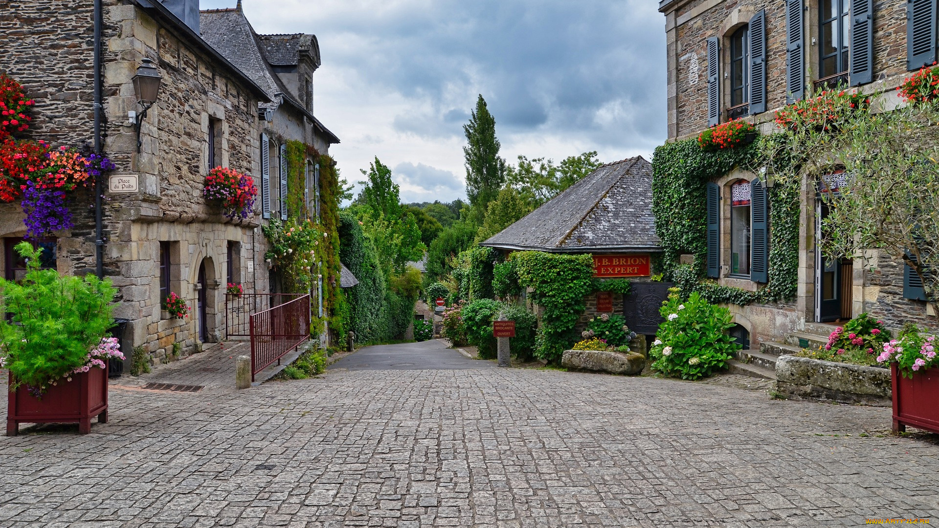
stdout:
<svg viewBox="0 0 939 528">
<path fill-rule="evenodd" d="M 916 327 L 907 325 L 897 339 L 884 344 L 877 357 L 890 364 L 893 375 L 893 430 L 902 432 L 907 426 L 939 433 L 939 339 Z"/>
</svg>

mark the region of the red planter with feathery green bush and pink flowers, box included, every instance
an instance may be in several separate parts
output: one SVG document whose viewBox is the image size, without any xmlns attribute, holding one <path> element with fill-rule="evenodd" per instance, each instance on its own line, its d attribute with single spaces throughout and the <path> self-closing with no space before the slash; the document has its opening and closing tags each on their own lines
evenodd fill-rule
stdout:
<svg viewBox="0 0 939 528">
<path fill-rule="evenodd" d="M 11 319 L 0 319 L 0 366 L 8 370 L 7 435 L 21 423 L 107 422 L 108 360 L 124 359 L 114 337 L 115 288 L 94 275 L 84 279 L 39 269 L 29 242 L 16 251 L 27 259 L 21 284 L 2 281 Z"/>
</svg>

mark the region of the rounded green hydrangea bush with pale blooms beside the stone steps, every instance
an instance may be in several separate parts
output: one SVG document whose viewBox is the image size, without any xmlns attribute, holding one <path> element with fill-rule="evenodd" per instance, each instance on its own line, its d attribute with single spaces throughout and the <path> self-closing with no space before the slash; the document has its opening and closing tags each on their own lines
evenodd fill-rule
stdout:
<svg viewBox="0 0 939 528">
<path fill-rule="evenodd" d="M 659 310 L 665 320 L 650 350 L 653 368 L 683 380 L 699 380 L 726 368 L 731 354 L 740 348 L 728 334 L 733 326 L 730 310 L 708 303 L 698 292 L 685 303 L 678 288 L 670 292 Z"/>
</svg>

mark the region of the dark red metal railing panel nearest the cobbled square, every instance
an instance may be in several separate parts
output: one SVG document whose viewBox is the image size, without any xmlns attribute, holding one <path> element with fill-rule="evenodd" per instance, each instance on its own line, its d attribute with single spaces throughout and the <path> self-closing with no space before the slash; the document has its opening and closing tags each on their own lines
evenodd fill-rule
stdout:
<svg viewBox="0 0 939 528">
<path fill-rule="evenodd" d="M 289 351 L 310 338 L 310 296 L 303 295 L 293 301 L 252 314 L 249 321 L 251 334 L 251 380 L 254 375 L 280 362 Z"/>
</svg>

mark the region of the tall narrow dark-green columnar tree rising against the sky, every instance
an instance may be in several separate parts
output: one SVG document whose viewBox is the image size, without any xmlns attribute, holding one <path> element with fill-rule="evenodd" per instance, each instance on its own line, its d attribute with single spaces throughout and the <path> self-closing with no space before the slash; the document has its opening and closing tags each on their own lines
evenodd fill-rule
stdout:
<svg viewBox="0 0 939 528">
<path fill-rule="evenodd" d="M 482 220 L 489 202 L 495 199 L 505 181 L 505 160 L 500 158 L 501 147 L 496 138 L 496 119 L 489 114 L 483 96 L 476 101 L 469 123 L 463 125 L 467 146 L 463 156 L 467 169 L 467 196 L 469 204 Z"/>
</svg>

